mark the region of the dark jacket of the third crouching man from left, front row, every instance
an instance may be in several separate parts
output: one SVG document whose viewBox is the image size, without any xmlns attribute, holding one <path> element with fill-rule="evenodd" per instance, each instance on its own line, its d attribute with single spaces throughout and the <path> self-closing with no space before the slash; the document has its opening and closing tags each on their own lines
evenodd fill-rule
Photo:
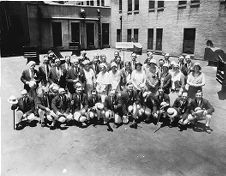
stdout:
<svg viewBox="0 0 226 176">
<path fill-rule="evenodd" d="M 70 110 L 70 99 L 65 95 L 61 98 L 60 95 L 57 95 L 52 100 L 51 107 L 53 111 L 60 112 L 60 113 L 69 113 Z"/>
</svg>

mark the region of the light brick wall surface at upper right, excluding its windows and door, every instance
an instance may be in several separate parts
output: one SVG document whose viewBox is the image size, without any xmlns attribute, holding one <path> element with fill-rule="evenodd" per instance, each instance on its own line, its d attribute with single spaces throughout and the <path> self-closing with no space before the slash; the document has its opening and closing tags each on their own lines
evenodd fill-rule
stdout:
<svg viewBox="0 0 226 176">
<path fill-rule="evenodd" d="M 196 58 L 203 59 L 207 40 L 212 40 L 216 47 L 226 51 L 226 8 L 218 0 L 201 0 L 199 7 L 178 9 L 178 1 L 165 1 L 164 11 L 149 12 L 148 0 L 140 0 L 139 14 L 127 14 L 127 0 L 123 0 L 122 13 L 119 14 L 118 0 L 111 2 L 111 46 L 115 46 L 117 33 L 120 29 L 120 15 L 123 20 L 123 41 L 127 40 L 127 29 L 139 29 L 139 42 L 147 50 L 148 28 L 154 28 L 154 49 L 156 28 L 163 28 L 162 51 L 179 55 L 183 51 L 184 28 L 196 28 Z M 134 9 L 134 0 L 133 0 Z"/>
</svg>

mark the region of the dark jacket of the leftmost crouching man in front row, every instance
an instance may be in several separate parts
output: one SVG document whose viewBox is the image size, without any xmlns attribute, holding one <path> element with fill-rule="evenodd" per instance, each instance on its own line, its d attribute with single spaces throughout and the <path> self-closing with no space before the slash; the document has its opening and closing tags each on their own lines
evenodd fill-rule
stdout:
<svg viewBox="0 0 226 176">
<path fill-rule="evenodd" d="M 18 108 L 18 109 L 17 109 Z M 30 96 L 27 96 L 25 99 L 23 97 L 18 99 L 18 103 L 12 105 L 12 110 L 17 109 L 17 111 L 22 111 L 23 113 L 32 113 L 35 110 L 34 99 Z"/>
</svg>

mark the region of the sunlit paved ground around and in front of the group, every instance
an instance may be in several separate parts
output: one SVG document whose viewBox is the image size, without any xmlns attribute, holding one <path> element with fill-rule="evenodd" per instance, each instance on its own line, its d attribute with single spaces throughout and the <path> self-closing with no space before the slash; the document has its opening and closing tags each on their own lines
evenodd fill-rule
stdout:
<svg viewBox="0 0 226 176">
<path fill-rule="evenodd" d="M 113 50 L 102 50 L 110 58 Z M 89 51 L 91 56 L 94 51 Z M 64 53 L 65 54 L 65 53 Z M 125 55 L 128 57 L 130 53 Z M 159 56 L 155 56 L 158 58 Z M 141 57 L 143 60 L 144 55 Z M 215 107 L 213 132 L 164 127 L 153 133 L 153 124 L 128 125 L 114 132 L 105 126 L 70 127 L 50 131 L 26 127 L 13 130 L 7 99 L 19 95 L 22 57 L 2 58 L 1 142 L 2 176 L 223 176 L 226 174 L 226 100 L 220 100 L 216 69 L 207 67 L 204 93 Z"/>
</svg>

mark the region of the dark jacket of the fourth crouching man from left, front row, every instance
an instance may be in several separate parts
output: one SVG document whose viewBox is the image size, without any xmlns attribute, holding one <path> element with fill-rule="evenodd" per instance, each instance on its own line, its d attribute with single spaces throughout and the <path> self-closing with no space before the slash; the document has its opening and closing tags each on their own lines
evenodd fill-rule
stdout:
<svg viewBox="0 0 226 176">
<path fill-rule="evenodd" d="M 71 111 L 72 113 L 81 110 L 82 108 L 88 109 L 88 98 L 85 93 L 81 93 L 81 95 L 74 93 L 71 98 Z"/>
</svg>

